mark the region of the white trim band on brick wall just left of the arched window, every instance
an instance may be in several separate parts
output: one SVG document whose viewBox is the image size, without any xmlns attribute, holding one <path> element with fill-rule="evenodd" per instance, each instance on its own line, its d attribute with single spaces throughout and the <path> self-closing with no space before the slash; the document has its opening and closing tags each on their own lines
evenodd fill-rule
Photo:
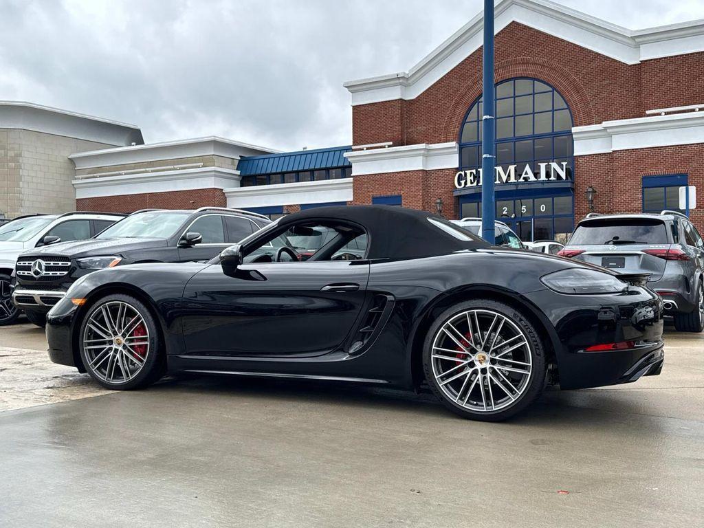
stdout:
<svg viewBox="0 0 704 528">
<path fill-rule="evenodd" d="M 352 175 L 383 174 L 406 170 L 436 170 L 457 168 L 456 143 L 436 143 L 394 146 L 389 149 L 370 149 L 346 152 L 352 163 Z"/>
</svg>

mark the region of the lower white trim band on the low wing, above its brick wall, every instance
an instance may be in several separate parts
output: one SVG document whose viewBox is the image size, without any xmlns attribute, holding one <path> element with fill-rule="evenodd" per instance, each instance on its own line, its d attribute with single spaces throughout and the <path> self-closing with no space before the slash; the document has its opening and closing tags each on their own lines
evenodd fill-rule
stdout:
<svg viewBox="0 0 704 528">
<path fill-rule="evenodd" d="M 201 167 L 119 176 L 83 177 L 73 180 L 72 183 L 78 199 L 196 189 L 225 189 L 239 185 L 240 180 L 241 176 L 237 170 Z"/>
</svg>

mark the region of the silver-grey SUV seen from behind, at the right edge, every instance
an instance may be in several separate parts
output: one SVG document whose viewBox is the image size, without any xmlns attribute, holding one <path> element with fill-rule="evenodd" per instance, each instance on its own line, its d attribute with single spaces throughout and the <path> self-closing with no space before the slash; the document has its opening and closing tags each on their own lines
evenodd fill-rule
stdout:
<svg viewBox="0 0 704 528">
<path fill-rule="evenodd" d="M 680 332 L 704 329 L 704 241 L 685 215 L 587 215 L 560 256 L 622 273 L 648 273 Z"/>
</svg>

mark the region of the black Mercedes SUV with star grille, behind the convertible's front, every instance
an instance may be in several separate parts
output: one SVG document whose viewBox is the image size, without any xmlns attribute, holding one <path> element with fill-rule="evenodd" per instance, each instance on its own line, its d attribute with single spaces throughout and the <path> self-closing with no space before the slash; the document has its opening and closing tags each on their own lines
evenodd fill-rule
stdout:
<svg viewBox="0 0 704 528">
<path fill-rule="evenodd" d="M 210 260 L 270 223 L 263 215 L 218 207 L 139 210 L 92 239 L 20 255 L 12 300 L 31 322 L 43 326 L 51 306 L 82 275 L 116 265 Z"/>
</svg>

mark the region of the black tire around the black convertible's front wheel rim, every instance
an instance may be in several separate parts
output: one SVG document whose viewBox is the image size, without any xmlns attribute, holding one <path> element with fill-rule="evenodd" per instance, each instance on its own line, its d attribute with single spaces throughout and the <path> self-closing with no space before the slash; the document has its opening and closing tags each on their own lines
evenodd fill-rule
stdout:
<svg viewBox="0 0 704 528">
<path fill-rule="evenodd" d="M 144 357 L 144 364 L 140 368 L 134 377 L 128 379 L 126 382 L 124 380 L 110 381 L 108 379 L 103 379 L 101 373 L 101 367 L 103 362 L 97 363 L 95 366 L 91 365 L 91 360 L 88 357 L 87 345 L 84 343 L 84 339 L 87 337 L 86 328 L 92 317 L 96 315 L 99 310 L 102 310 L 104 306 L 113 306 L 115 303 L 126 303 L 130 306 L 136 313 L 142 317 L 144 322 L 144 327 L 146 327 L 147 335 L 144 336 L 144 340 L 149 343 L 146 349 L 146 356 Z M 92 330 L 91 330 L 92 332 Z M 147 308 L 142 301 L 129 295 L 113 294 L 100 298 L 96 301 L 84 314 L 83 320 L 81 322 L 80 333 L 78 334 L 77 345 L 79 347 L 79 352 L 83 365 L 85 365 L 87 372 L 96 382 L 106 389 L 113 389 L 119 391 L 132 390 L 132 389 L 143 389 L 160 379 L 165 372 L 165 360 L 162 350 L 161 334 L 159 332 L 158 323 L 154 320 L 149 308 Z M 125 339 L 126 341 L 126 339 Z M 90 346 L 88 346 L 90 348 Z M 111 353 L 116 353 L 115 348 Z M 92 356 L 95 359 L 94 356 Z M 109 363 L 108 363 L 109 365 Z"/>
</svg>

